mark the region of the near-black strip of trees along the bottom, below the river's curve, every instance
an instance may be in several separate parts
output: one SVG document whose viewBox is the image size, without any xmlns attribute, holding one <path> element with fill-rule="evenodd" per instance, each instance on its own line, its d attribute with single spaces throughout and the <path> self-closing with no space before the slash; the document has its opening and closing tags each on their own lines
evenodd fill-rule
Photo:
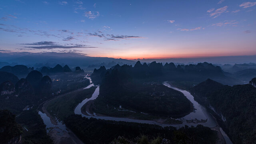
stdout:
<svg viewBox="0 0 256 144">
<path fill-rule="evenodd" d="M 177 130 L 171 126 L 88 119 L 81 115 L 71 115 L 64 122 L 86 144 L 160 144 L 162 138 L 171 144 L 215 144 L 217 140 L 216 132 L 202 125 Z"/>
</svg>

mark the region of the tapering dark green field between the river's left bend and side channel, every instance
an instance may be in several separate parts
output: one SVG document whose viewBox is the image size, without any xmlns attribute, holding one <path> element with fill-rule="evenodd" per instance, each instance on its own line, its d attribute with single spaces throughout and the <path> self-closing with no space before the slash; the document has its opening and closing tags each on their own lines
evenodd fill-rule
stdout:
<svg viewBox="0 0 256 144">
<path fill-rule="evenodd" d="M 67 116 L 74 114 L 74 108 L 77 104 L 86 98 L 90 98 L 95 89 L 96 87 L 92 86 L 88 89 L 80 89 L 63 94 L 49 102 L 47 111 L 59 120 L 64 120 Z"/>
</svg>

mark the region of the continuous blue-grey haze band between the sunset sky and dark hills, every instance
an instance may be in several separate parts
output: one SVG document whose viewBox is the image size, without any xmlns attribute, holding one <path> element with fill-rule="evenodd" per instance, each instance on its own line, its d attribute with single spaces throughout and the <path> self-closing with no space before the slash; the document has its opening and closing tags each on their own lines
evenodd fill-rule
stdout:
<svg viewBox="0 0 256 144">
<path fill-rule="evenodd" d="M 61 53 L 61 52 L 18 52 L 3 53 L 0 52 L 0 62 L 2 66 L 14 66 L 17 64 L 26 65 L 28 67 L 40 68 L 42 66 L 54 67 L 56 64 L 68 65 L 71 67 L 80 66 L 83 69 L 93 70 L 100 66 L 110 68 L 116 64 L 134 65 L 136 60 L 126 60 L 121 58 L 108 57 L 90 57 L 79 53 Z M 243 64 L 256 63 L 256 55 L 252 56 L 220 56 L 220 57 L 204 57 L 204 58 L 164 58 L 164 59 L 141 59 L 141 62 L 174 62 L 175 64 L 197 64 L 199 62 L 208 62 L 212 64 Z M 76 65 L 75 65 L 76 64 Z M 1 66 L 0 65 L 0 66 Z"/>
</svg>

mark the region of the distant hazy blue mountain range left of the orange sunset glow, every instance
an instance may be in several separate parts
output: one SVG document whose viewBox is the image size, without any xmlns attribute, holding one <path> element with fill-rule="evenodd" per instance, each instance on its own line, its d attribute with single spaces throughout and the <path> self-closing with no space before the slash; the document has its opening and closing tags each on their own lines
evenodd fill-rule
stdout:
<svg viewBox="0 0 256 144">
<path fill-rule="evenodd" d="M 132 64 L 134 61 L 126 59 L 116 59 L 116 58 L 106 58 L 106 57 L 90 57 L 84 56 L 76 53 L 57 53 L 57 52 L 47 52 L 47 53 L 1 53 L 0 61 L 2 62 L 16 62 L 18 64 L 26 65 L 28 67 L 40 68 L 42 66 L 53 67 L 56 64 L 69 65 L 71 67 L 80 66 L 83 69 L 89 68 L 92 65 L 99 66 L 102 63 L 115 62 L 116 64 Z M 8 64 L 9 65 L 9 64 Z M 113 66 L 113 65 L 112 65 Z"/>
</svg>

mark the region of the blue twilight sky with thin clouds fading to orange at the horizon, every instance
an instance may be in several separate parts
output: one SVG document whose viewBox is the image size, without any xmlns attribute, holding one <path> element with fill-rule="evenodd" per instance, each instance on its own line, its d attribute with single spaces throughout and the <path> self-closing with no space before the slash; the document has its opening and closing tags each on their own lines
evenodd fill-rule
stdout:
<svg viewBox="0 0 256 144">
<path fill-rule="evenodd" d="M 0 52 L 126 59 L 256 54 L 255 0 L 1 0 Z"/>
</svg>

